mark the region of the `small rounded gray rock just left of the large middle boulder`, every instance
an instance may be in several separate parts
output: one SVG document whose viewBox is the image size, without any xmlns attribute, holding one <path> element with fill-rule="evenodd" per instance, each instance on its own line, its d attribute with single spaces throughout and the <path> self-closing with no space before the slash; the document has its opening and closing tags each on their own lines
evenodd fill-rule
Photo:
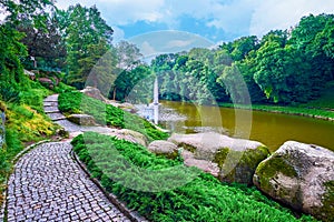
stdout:
<svg viewBox="0 0 334 222">
<path fill-rule="evenodd" d="M 178 155 L 177 145 L 164 140 L 157 140 L 149 143 L 148 150 L 153 153 L 156 153 L 158 155 L 164 155 L 170 159 L 175 159 Z"/>
</svg>

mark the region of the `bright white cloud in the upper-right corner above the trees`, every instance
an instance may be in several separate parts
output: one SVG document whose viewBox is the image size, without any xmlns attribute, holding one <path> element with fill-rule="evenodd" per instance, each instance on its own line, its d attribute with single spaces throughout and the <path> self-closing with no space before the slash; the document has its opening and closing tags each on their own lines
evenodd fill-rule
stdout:
<svg viewBox="0 0 334 222">
<path fill-rule="evenodd" d="M 249 33 L 262 37 L 271 30 L 289 29 L 304 16 L 333 12 L 334 1 L 328 0 L 266 0 L 255 9 Z"/>
</svg>

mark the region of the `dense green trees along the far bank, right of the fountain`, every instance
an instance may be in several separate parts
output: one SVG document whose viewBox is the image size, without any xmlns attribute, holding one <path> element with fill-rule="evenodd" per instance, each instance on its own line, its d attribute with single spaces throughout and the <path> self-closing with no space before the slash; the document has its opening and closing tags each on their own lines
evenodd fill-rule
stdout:
<svg viewBox="0 0 334 222">
<path fill-rule="evenodd" d="M 151 68 L 160 97 L 198 103 L 292 104 L 320 97 L 334 80 L 333 14 L 304 17 L 289 32 L 244 37 L 218 49 L 161 54 Z"/>
</svg>

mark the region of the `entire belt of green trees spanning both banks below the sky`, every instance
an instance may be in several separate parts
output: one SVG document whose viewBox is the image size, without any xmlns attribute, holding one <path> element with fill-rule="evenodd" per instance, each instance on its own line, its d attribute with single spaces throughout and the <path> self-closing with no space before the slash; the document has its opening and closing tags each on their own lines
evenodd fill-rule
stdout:
<svg viewBox="0 0 334 222">
<path fill-rule="evenodd" d="M 161 54 L 145 64 L 136 46 L 112 43 L 114 30 L 96 7 L 58 10 L 41 0 L 21 8 L 2 4 L 9 14 L 1 24 L 2 100 L 16 97 L 23 68 L 61 71 L 63 82 L 77 89 L 99 85 L 117 100 L 157 74 L 161 99 L 198 103 L 213 98 L 244 103 L 245 91 L 255 103 L 304 103 L 334 80 L 333 14 L 311 14 L 261 39 L 243 37 L 215 49 Z"/>
</svg>

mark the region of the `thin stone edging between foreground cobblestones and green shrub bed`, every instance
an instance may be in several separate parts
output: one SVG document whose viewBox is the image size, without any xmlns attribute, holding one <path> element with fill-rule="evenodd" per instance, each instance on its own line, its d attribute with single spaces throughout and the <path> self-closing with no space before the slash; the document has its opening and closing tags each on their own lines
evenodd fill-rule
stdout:
<svg viewBox="0 0 334 222">
<path fill-rule="evenodd" d="M 122 202 L 120 202 L 120 201 L 118 200 L 118 198 L 117 198 L 115 194 L 109 193 L 109 192 L 100 184 L 100 182 L 99 182 L 97 179 L 92 178 L 92 176 L 90 175 L 88 169 L 86 168 L 86 164 L 82 163 L 82 162 L 78 159 L 78 157 L 77 157 L 77 154 L 73 152 L 73 150 L 71 150 L 71 153 L 70 153 L 70 154 L 71 154 L 72 159 L 80 165 L 80 168 L 82 169 L 82 171 L 89 176 L 89 179 L 90 179 L 90 180 L 91 180 L 91 181 L 92 181 L 92 182 L 101 190 L 101 192 L 107 196 L 107 199 L 108 199 L 114 205 L 116 205 L 116 206 L 118 208 L 118 210 L 119 210 L 120 212 L 122 212 L 126 216 L 128 216 L 132 222 L 148 222 L 148 220 L 146 220 L 146 219 L 144 219 L 143 216 L 140 216 L 137 212 L 127 209 L 127 206 L 126 206 Z"/>
</svg>

